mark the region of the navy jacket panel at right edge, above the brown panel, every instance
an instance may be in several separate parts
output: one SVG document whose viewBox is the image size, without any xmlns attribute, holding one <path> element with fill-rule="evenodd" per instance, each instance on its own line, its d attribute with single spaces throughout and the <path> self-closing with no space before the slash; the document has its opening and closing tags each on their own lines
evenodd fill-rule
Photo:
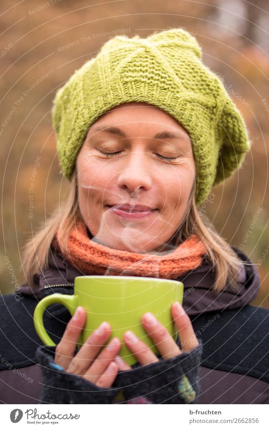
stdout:
<svg viewBox="0 0 269 429">
<path fill-rule="evenodd" d="M 203 366 L 247 373 L 269 383 L 269 310 L 246 305 L 202 313 L 192 324 L 203 342 Z"/>
</svg>

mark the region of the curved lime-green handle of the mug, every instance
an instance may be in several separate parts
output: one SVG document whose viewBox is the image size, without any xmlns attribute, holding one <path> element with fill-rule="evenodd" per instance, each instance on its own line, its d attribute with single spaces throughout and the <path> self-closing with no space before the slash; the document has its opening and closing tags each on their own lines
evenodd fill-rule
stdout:
<svg viewBox="0 0 269 429">
<path fill-rule="evenodd" d="M 63 294 L 53 294 L 43 298 L 37 306 L 35 307 L 33 319 L 34 327 L 41 341 L 43 341 L 45 346 L 56 346 L 55 342 L 51 340 L 47 331 L 45 330 L 43 323 L 43 314 L 45 309 L 51 304 L 62 304 L 64 305 L 71 316 L 75 313 L 77 309 L 77 296 L 76 295 L 63 295 Z"/>
</svg>

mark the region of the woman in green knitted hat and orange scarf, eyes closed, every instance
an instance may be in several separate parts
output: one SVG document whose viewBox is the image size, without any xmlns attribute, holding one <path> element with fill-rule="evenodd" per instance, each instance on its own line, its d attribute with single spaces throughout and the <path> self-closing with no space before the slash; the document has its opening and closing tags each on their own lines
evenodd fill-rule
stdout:
<svg viewBox="0 0 269 429">
<path fill-rule="evenodd" d="M 2 402 L 269 403 L 268 311 L 249 305 L 257 269 L 197 209 L 250 143 L 196 39 L 182 29 L 114 37 L 58 90 L 52 118 L 70 194 L 26 244 L 26 282 L 3 298 Z M 72 294 L 81 274 L 183 281 L 177 341 L 145 313 L 159 355 L 132 331 L 107 345 L 105 320 L 77 351 L 84 309 L 71 318 L 53 305 L 45 327 L 57 346 L 43 347 L 38 300 Z"/>
</svg>

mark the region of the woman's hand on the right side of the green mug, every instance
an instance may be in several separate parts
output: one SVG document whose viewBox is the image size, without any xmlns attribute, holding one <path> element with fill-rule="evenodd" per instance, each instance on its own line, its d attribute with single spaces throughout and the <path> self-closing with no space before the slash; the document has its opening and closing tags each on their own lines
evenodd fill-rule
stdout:
<svg viewBox="0 0 269 429">
<path fill-rule="evenodd" d="M 160 323 L 152 313 L 145 313 L 142 317 L 142 325 L 145 331 L 150 335 L 154 344 L 158 348 L 160 355 L 164 359 L 169 359 L 180 355 L 183 352 L 190 352 L 199 345 L 193 330 L 191 321 L 183 307 L 175 302 L 172 305 L 171 314 L 178 329 L 178 334 L 182 346 L 179 348 L 168 330 Z M 150 317 L 151 315 L 151 317 Z M 141 365 L 158 362 L 159 359 L 152 350 L 143 341 L 139 340 L 134 333 L 127 331 L 124 333 L 123 340 L 131 353 L 135 355 Z M 134 336 L 134 337 L 133 337 Z M 132 369 L 123 359 L 116 358 L 120 370 Z"/>
</svg>

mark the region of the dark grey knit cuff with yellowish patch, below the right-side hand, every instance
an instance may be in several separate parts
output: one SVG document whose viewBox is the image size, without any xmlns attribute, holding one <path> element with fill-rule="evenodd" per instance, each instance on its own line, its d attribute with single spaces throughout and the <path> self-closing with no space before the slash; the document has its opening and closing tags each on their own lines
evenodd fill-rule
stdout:
<svg viewBox="0 0 269 429">
<path fill-rule="evenodd" d="M 191 352 L 148 365 L 135 364 L 117 377 L 126 403 L 195 404 L 202 342 Z"/>
</svg>

